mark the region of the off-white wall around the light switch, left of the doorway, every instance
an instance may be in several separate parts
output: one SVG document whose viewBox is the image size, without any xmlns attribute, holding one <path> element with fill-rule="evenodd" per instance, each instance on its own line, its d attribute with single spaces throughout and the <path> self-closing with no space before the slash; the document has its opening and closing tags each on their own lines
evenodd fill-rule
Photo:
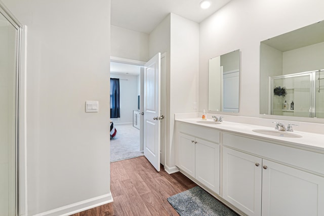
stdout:
<svg viewBox="0 0 324 216">
<path fill-rule="evenodd" d="M 112 201 L 110 1 L 3 2 L 28 26 L 28 215 Z M 86 113 L 86 100 L 99 101 L 100 111 Z"/>
</svg>

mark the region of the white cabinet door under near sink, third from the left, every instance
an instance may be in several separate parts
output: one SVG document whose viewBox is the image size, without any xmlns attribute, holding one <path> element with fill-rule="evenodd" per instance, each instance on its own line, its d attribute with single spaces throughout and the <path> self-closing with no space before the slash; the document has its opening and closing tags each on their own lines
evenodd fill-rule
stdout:
<svg viewBox="0 0 324 216">
<path fill-rule="evenodd" d="M 223 198 L 248 215 L 261 215 L 262 159 L 223 148 Z"/>
</svg>

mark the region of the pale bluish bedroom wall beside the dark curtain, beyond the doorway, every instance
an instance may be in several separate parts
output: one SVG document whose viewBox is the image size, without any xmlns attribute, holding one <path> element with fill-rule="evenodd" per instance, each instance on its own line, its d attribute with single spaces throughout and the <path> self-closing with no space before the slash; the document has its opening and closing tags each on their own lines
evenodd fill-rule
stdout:
<svg viewBox="0 0 324 216">
<path fill-rule="evenodd" d="M 138 76 L 110 73 L 110 78 L 119 78 L 120 103 L 120 118 L 111 120 L 114 124 L 132 123 L 133 110 L 137 110 Z"/>
</svg>

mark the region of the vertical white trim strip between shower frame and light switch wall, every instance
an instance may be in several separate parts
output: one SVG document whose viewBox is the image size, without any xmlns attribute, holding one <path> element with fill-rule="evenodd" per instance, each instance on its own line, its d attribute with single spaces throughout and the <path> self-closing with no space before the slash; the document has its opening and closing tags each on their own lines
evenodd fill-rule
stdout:
<svg viewBox="0 0 324 216">
<path fill-rule="evenodd" d="M 26 118 L 26 57 L 27 26 L 21 28 L 19 63 L 19 119 L 18 119 L 18 215 L 27 215 L 27 118 Z"/>
</svg>

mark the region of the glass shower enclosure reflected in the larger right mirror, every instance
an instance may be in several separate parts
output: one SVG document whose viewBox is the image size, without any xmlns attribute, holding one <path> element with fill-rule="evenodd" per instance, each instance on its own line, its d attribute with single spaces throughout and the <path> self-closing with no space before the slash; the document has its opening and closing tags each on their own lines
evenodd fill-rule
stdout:
<svg viewBox="0 0 324 216">
<path fill-rule="evenodd" d="M 324 118 L 324 69 L 269 77 L 272 115 Z"/>
</svg>

